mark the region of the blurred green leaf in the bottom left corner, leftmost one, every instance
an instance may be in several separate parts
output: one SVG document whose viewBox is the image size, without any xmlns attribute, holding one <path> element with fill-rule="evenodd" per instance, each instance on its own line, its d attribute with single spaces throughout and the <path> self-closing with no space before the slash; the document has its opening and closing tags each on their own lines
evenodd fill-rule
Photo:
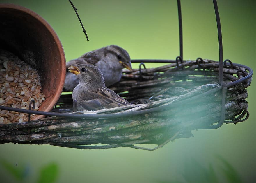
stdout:
<svg viewBox="0 0 256 183">
<path fill-rule="evenodd" d="M 15 166 L 3 159 L 0 160 L 0 164 L 17 180 L 23 181 L 25 179 L 28 170 L 25 166 Z"/>
</svg>

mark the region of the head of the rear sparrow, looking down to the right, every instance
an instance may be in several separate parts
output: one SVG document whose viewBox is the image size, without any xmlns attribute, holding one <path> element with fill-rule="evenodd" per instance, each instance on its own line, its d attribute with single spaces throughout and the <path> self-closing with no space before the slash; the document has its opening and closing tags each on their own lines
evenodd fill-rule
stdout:
<svg viewBox="0 0 256 183">
<path fill-rule="evenodd" d="M 117 45 L 110 45 L 107 46 L 104 50 L 104 56 L 106 56 L 106 60 L 111 61 L 113 67 L 121 70 L 123 68 L 132 70 L 131 68 L 131 58 L 126 50 L 117 46 Z"/>
</svg>

